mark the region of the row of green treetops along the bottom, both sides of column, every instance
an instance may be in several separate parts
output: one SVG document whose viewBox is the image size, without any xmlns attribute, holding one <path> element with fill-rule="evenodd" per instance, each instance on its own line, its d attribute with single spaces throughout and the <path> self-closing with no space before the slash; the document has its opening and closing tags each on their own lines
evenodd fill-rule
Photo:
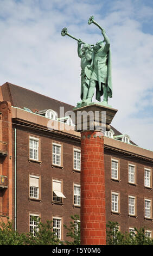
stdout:
<svg viewBox="0 0 153 256">
<path fill-rule="evenodd" d="M 65 241 L 66 245 L 80 245 L 80 218 L 78 215 L 71 216 L 72 221 L 69 227 L 64 225 L 67 230 L 67 237 L 70 241 Z M 32 233 L 18 233 L 15 231 L 12 222 L 0 223 L 0 245 L 59 245 L 61 241 L 53 232 L 52 221 L 46 223 L 35 219 L 37 228 Z M 75 225 L 74 223 L 77 223 Z M 147 229 L 147 228 L 146 228 Z M 107 245 L 153 245 L 153 239 L 145 236 L 145 228 L 135 228 L 135 232 L 122 233 L 119 231 L 117 222 L 106 224 L 106 243 Z"/>
</svg>

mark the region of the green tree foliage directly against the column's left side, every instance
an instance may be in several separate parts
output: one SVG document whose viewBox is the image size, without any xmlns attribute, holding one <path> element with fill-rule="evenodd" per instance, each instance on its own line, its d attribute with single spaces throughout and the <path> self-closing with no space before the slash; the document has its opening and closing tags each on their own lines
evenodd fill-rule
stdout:
<svg viewBox="0 0 153 256">
<path fill-rule="evenodd" d="M 69 227 L 64 224 L 67 230 L 67 237 L 71 237 L 71 241 L 65 241 L 66 245 L 80 245 L 80 217 L 78 215 L 71 216 L 72 221 Z M 75 225 L 77 223 L 77 225 Z"/>
</svg>

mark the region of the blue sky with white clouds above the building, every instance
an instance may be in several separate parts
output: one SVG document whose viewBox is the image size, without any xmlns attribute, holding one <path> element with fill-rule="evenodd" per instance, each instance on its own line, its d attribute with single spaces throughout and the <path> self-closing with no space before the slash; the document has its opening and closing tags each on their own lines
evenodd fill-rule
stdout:
<svg viewBox="0 0 153 256">
<path fill-rule="evenodd" d="M 77 42 L 111 41 L 112 125 L 153 150 L 152 0 L 0 0 L 0 84 L 10 82 L 73 106 L 80 101 Z"/>
</svg>

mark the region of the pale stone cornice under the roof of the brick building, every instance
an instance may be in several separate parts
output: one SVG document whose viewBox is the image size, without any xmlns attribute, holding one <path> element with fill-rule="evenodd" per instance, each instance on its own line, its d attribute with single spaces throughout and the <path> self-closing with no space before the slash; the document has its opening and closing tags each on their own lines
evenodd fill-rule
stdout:
<svg viewBox="0 0 153 256">
<path fill-rule="evenodd" d="M 58 129 L 48 129 L 49 119 L 35 113 L 29 113 L 20 108 L 12 107 L 12 124 L 28 127 L 29 129 L 35 129 L 39 131 L 52 133 L 54 136 L 61 136 L 62 138 L 69 138 L 73 141 L 80 142 L 80 132 L 74 130 L 74 126 L 62 123 L 54 120 Z M 63 125 L 63 130 L 60 129 L 60 125 Z M 70 129 L 70 130 L 69 130 Z M 140 148 L 136 145 L 124 143 L 118 139 L 112 139 L 104 136 L 104 149 L 112 152 L 126 155 L 129 157 L 135 157 L 143 161 L 153 162 L 153 152 Z"/>
</svg>

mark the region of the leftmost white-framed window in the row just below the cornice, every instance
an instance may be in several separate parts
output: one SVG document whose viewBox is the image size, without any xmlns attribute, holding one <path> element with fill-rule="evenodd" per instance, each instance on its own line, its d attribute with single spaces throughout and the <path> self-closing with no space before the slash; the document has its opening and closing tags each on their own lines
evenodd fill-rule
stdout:
<svg viewBox="0 0 153 256">
<path fill-rule="evenodd" d="M 39 138 L 29 137 L 29 158 L 39 161 Z"/>
</svg>

